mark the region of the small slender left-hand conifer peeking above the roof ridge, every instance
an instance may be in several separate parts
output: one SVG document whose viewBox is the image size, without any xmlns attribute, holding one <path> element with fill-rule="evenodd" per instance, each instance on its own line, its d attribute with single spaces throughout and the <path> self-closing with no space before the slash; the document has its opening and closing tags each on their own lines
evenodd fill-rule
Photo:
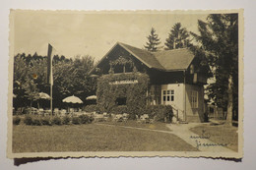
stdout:
<svg viewBox="0 0 256 170">
<path fill-rule="evenodd" d="M 146 42 L 147 45 L 144 45 L 144 47 L 151 52 L 158 51 L 160 44 L 160 38 L 159 35 L 156 33 L 155 28 L 151 28 L 151 34 L 147 36 L 149 42 Z"/>
</svg>

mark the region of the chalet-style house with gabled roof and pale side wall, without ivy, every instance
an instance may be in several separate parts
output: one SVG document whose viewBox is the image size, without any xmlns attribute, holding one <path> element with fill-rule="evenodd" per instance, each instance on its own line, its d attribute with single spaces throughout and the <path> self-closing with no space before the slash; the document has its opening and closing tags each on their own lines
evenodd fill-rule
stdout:
<svg viewBox="0 0 256 170">
<path fill-rule="evenodd" d="M 147 74 L 149 85 L 146 104 L 171 105 L 179 121 L 204 122 L 204 86 L 207 83 L 207 66 L 189 49 L 181 48 L 149 52 L 117 42 L 91 71 L 104 77 L 120 74 Z M 137 80 L 121 80 L 109 85 L 140 85 Z M 110 87 L 111 88 L 111 87 Z M 125 93 L 125 92 L 124 92 Z M 126 104 L 126 95 L 116 104 Z"/>
</svg>

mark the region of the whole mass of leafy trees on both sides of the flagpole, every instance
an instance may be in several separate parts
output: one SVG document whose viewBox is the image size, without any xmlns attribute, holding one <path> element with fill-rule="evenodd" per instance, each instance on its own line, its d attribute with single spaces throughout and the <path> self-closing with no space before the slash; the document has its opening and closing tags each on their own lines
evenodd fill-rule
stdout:
<svg viewBox="0 0 256 170">
<path fill-rule="evenodd" d="M 95 94 L 96 80 L 91 79 L 89 71 L 94 67 L 91 56 L 77 56 L 67 59 L 65 56 L 53 57 L 53 105 L 63 108 L 62 99 L 75 94 L 82 100 Z M 46 83 L 47 57 L 17 54 L 14 57 L 14 107 L 38 107 L 38 92 L 50 93 Z M 37 101 L 37 102 L 35 102 Z M 44 107 L 49 107 L 44 106 Z"/>
</svg>

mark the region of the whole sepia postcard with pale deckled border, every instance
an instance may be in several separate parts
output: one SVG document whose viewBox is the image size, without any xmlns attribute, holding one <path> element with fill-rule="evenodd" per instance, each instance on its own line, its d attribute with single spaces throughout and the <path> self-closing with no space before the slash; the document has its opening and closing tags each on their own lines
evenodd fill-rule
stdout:
<svg viewBox="0 0 256 170">
<path fill-rule="evenodd" d="M 11 10 L 9 39 L 9 158 L 242 158 L 243 10 Z"/>
</svg>

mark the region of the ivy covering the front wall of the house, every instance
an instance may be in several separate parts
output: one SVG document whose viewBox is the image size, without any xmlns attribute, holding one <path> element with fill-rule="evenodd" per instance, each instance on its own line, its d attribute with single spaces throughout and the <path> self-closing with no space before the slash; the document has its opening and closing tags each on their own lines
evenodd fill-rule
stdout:
<svg viewBox="0 0 256 170">
<path fill-rule="evenodd" d="M 120 81 L 138 81 L 137 84 L 113 85 Z M 110 113 L 117 105 L 118 97 L 126 98 L 128 112 L 137 114 L 143 110 L 147 101 L 149 76 L 142 73 L 105 75 L 97 81 L 97 105 L 101 112 Z"/>
</svg>

